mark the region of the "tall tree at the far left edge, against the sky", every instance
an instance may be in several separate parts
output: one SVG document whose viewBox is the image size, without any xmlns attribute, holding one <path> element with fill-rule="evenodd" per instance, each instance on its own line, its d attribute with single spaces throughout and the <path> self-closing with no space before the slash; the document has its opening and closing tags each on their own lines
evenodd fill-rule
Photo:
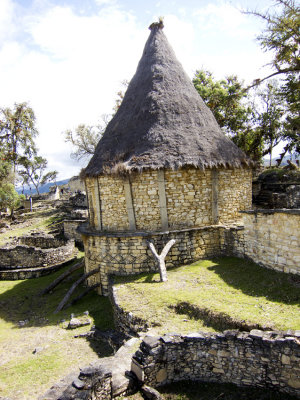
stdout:
<svg viewBox="0 0 300 400">
<path fill-rule="evenodd" d="M 35 115 L 27 103 L 16 103 L 13 109 L 0 108 L 0 143 L 14 173 L 19 157 L 35 154 L 37 135 Z"/>
</svg>

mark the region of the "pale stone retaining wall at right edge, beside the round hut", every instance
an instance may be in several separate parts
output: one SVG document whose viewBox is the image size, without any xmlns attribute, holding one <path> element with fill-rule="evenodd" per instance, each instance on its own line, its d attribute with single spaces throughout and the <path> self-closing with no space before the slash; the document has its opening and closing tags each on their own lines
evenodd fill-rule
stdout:
<svg viewBox="0 0 300 400">
<path fill-rule="evenodd" d="M 239 255 L 277 271 L 300 274 L 300 210 L 244 211 Z"/>
</svg>

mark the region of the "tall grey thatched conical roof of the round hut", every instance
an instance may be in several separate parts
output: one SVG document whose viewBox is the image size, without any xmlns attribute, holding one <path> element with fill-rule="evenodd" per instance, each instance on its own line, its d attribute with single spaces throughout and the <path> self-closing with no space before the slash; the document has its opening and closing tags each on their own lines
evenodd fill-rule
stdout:
<svg viewBox="0 0 300 400">
<path fill-rule="evenodd" d="M 249 165 L 195 90 L 161 24 L 150 29 L 137 71 L 85 175 Z"/>
</svg>

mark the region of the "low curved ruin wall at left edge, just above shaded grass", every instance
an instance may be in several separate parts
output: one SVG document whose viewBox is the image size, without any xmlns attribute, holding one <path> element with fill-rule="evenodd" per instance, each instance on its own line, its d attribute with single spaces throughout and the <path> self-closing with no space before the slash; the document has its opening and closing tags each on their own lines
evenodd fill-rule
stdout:
<svg viewBox="0 0 300 400">
<path fill-rule="evenodd" d="M 32 236 L 19 243 L 26 244 L 0 249 L 0 269 L 47 267 L 69 259 L 75 250 L 74 240 Z"/>
</svg>

